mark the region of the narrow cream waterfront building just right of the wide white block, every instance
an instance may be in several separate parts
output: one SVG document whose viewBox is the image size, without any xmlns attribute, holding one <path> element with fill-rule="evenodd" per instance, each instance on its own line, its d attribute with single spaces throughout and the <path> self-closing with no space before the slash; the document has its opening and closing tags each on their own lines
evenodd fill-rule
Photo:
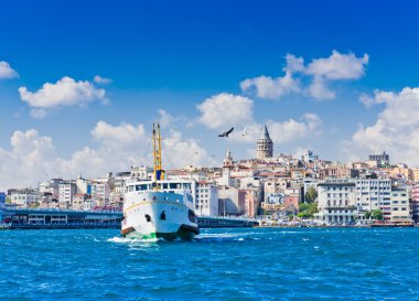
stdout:
<svg viewBox="0 0 419 301">
<path fill-rule="evenodd" d="M 391 223 L 411 223 L 409 194 L 405 189 L 391 189 Z"/>
</svg>

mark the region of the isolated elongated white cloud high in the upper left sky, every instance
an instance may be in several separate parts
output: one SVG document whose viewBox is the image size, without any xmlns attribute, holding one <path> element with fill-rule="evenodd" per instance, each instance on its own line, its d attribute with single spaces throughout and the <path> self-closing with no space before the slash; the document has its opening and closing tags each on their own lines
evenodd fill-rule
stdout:
<svg viewBox="0 0 419 301">
<path fill-rule="evenodd" d="M 33 109 L 33 117 L 44 117 L 47 110 L 64 106 L 86 106 L 94 100 L 108 101 L 106 92 L 96 88 L 90 82 L 78 80 L 64 76 L 55 84 L 45 83 L 37 92 L 29 92 L 26 87 L 19 88 L 20 97 Z"/>
</svg>

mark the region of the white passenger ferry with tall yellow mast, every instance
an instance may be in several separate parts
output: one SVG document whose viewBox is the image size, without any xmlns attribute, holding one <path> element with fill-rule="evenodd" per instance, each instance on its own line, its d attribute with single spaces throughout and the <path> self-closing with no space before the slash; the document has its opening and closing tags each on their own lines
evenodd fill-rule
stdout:
<svg viewBox="0 0 419 301">
<path fill-rule="evenodd" d="M 200 234 L 191 183 L 164 180 L 160 125 L 153 125 L 152 181 L 127 184 L 121 235 L 128 238 L 192 239 Z"/>
</svg>

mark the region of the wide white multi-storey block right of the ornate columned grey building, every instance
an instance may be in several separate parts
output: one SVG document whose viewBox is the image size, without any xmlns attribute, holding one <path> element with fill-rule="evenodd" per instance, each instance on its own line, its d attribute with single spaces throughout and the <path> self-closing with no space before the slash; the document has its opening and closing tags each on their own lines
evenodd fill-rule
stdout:
<svg viewBox="0 0 419 301">
<path fill-rule="evenodd" d="M 369 176 L 355 181 L 356 206 L 363 218 L 363 213 L 382 209 L 384 221 L 390 221 L 391 215 L 391 181 L 388 179 L 375 179 Z"/>
</svg>

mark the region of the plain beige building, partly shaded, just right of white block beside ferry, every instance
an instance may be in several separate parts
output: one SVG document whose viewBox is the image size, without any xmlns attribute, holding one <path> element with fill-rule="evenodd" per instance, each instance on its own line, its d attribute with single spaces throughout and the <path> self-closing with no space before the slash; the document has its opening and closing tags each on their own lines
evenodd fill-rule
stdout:
<svg viewBox="0 0 419 301">
<path fill-rule="evenodd" d="M 218 187 L 218 214 L 243 215 L 246 212 L 246 192 L 236 187 Z"/>
</svg>

